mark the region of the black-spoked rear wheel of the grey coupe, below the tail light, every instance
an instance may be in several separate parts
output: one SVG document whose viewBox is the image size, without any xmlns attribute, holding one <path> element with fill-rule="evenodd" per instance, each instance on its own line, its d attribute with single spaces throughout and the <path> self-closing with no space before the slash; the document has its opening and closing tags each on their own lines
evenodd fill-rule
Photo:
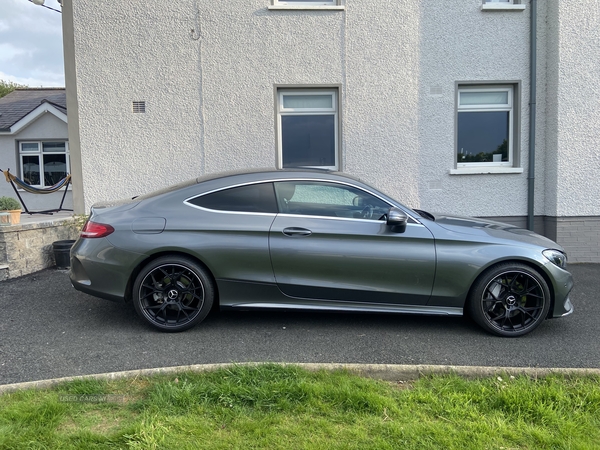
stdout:
<svg viewBox="0 0 600 450">
<path fill-rule="evenodd" d="M 202 322 L 214 299 L 208 272 L 194 261 L 164 256 L 146 265 L 133 286 L 138 315 L 162 331 L 183 331 Z"/>
</svg>

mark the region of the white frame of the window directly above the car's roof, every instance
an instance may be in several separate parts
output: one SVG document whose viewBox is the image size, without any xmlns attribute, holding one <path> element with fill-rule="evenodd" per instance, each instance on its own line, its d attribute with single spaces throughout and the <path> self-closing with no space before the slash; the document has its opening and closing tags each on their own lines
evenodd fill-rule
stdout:
<svg viewBox="0 0 600 450">
<path fill-rule="evenodd" d="M 331 108 L 285 108 L 283 106 L 284 96 L 305 96 L 305 95 L 331 95 Z M 336 88 L 279 88 L 277 89 L 277 166 L 283 168 L 283 137 L 282 122 L 283 116 L 302 116 L 302 115 L 333 115 L 334 122 L 334 155 L 335 164 L 333 166 L 302 166 L 313 169 L 339 170 L 339 92 Z"/>
</svg>

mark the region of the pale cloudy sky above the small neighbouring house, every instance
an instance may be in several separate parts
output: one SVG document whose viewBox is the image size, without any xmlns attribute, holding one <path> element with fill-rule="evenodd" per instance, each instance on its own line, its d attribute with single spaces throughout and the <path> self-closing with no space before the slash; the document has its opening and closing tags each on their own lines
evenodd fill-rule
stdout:
<svg viewBox="0 0 600 450">
<path fill-rule="evenodd" d="M 56 0 L 45 4 L 60 10 Z M 0 0 L 0 79 L 64 87 L 62 14 L 27 0 Z"/>
</svg>

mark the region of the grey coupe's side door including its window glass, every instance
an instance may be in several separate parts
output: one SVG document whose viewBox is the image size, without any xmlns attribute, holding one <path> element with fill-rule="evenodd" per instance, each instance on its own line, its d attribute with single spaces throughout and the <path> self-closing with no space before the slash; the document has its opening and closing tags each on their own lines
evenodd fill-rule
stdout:
<svg viewBox="0 0 600 450">
<path fill-rule="evenodd" d="M 424 305 L 435 274 L 429 230 L 386 225 L 391 205 L 344 183 L 276 182 L 279 214 L 269 233 L 273 272 L 287 296 Z"/>
</svg>

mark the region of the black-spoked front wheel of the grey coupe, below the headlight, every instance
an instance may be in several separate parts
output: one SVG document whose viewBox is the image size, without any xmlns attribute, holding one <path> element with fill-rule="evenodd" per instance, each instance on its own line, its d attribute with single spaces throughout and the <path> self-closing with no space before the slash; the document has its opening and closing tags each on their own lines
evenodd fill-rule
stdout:
<svg viewBox="0 0 600 450">
<path fill-rule="evenodd" d="M 548 315 L 550 290 L 534 269 L 519 263 L 499 264 L 475 282 L 467 302 L 475 322 L 498 336 L 522 336 Z"/>
</svg>

